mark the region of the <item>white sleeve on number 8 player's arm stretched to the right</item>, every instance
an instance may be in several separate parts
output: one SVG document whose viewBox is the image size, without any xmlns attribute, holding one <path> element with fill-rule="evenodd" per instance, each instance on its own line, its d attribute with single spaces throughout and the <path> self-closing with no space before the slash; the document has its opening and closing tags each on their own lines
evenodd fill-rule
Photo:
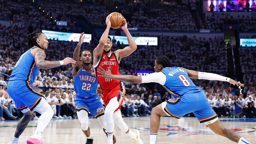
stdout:
<svg viewBox="0 0 256 144">
<path fill-rule="evenodd" d="M 198 72 L 198 79 L 205 79 L 205 80 L 220 80 L 224 82 L 229 82 L 230 78 L 223 77 L 222 75 L 208 73 L 208 72 Z"/>
</svg>

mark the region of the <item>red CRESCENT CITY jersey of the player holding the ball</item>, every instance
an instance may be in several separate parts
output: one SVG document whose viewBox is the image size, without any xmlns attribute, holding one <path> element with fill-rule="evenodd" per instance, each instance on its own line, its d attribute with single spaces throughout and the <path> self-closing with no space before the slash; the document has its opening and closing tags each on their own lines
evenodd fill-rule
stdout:
<svg viewBox="0 0 256 144">
<path fill-rule="evenodd" d="M 120 75 L 119 73 L 119 63 L 117 60 L 117 57 L 115 56 L 115 53 L 111 51 L 110 57 L 108 57 L 104 52 L 102 54 L 102 57 L 100 58 L 99 62 L 95 65 L 95 68 L 102 67 L 104 70 L 111 71 L 114 75 Z M 120 86 L 121 81 L 120 80 L 112 80 L 107 79 L 105 77 L 99 77 L 98 75 L 101 75 L 100 73 L 96 72 L 98 83 L 100 84 L 100 87 L 102 90 L 112 90 L 113 88 Z"/>
</svg>

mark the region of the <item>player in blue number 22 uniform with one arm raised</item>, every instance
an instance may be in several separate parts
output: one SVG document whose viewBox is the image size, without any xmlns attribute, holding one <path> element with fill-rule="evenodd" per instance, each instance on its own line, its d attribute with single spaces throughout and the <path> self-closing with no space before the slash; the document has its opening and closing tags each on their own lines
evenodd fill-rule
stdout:
<svg viewBox="0 0 256 144">
<path fill-rule="evenodd" d="M 96 79 L 94 66 L 91 64 L 92 54 L 88 50 L 80 52 L 84 37 L 84 33 L 82 33 L 73 53 L 73 59 L 76 61 L 75 64 L 72 64 L 74 89 L 76 93 L 74 101 L 82 132 L 87 137 L 85 144 L 93 144 L 89 127 L 89 111 L 92 116 L 98 119 L 104 132 L 105 129 L 107 129 L 107 122 L 104 116 L 103 105 L 99 99 L 99 95 L 96 93 L 96 90 L 100 91 L 100 89 L 97 89 L 98 80 Z M 115 142 L 116 138 L 113 136 L 113 143 Z"/>
</svg>

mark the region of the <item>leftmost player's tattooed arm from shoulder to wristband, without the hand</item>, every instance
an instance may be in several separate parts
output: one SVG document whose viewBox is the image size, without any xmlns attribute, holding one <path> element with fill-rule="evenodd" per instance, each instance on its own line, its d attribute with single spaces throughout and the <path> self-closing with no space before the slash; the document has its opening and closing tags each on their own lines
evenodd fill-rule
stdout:
<svg viewBox="0 0 256 144">
<path fill-rule="evenodd" d="M 61 63 L 59 61 L 45 61 L 46 54 L 44 50 L 37 49 L 36 54 L 34 57 L 34 61 L 36 62 L 36 66 L 39 69 L 51 69 L 53 67 L 59 67 L 61 66 Z"/>
</svg>

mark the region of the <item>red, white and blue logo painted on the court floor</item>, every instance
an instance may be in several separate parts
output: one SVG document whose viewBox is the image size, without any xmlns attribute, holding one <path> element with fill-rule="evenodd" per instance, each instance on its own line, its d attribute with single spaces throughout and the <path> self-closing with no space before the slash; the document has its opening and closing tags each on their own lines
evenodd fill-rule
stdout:
<svg viewBox="0 0 256 144">
<path fill-rule="evenodd" d="M 169 126 L 165 125 L 166 128 L 159 128 L 158 132 L 164 132 L 168 135 L 184 133 L 184 134 L 215 134 L 208 127 L 189 127 L 189 126 Z M 144 131 L 149 131 L 149 128 L 137 128 Z M 230 128 L 236 133 L 247 133 L 255 131 L 253 128 Z"/>
</svg>

